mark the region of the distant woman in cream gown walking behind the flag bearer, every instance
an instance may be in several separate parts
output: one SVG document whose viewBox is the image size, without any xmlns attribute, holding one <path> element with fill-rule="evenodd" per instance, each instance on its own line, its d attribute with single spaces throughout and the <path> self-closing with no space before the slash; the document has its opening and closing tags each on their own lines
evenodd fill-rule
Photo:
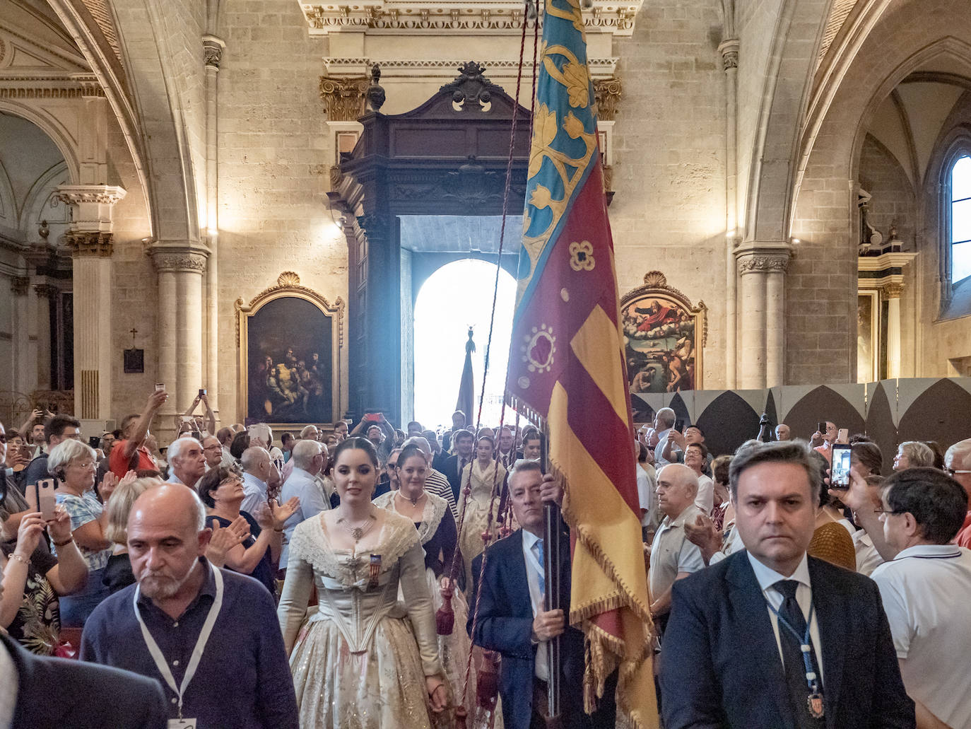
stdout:
<svg viewBox="0 0 971 729">
<path fill-rule="evenodd" d="M 462 491 L 458 495 L 458 523 L 462 525 L 458 535 L 458 546 L 465 559 L 465 589 L 472 589 L 472 560 L 483 553 L 483 532 L 488 525 L 488 510 L 492 502 L 492 489 L 501 493 L 503 481 L 506 479 L 506 469 L 498 461 L 492 459 L 494 445 L 492 438 L 482 436 L 476 442 L 476 459 L 462 470 Z M 496 472 L 498 470 L 498 473 Z M 465 487 L 471 485 L 471 492 L 466 498 Z M 492 527 L 490 534 L 494 541 L 499 532 L 498 512 L 499 498 L 496 497 L 493 506 Z M 464 512 L 465 516 L 462 517 Z M 468 596 L 470 602 L 474 596 Z"/>
</svg>

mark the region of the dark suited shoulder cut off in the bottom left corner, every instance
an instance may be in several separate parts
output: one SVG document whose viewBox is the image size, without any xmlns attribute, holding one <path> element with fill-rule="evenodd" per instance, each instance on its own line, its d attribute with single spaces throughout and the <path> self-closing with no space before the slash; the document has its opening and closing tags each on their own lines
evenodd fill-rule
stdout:
<svg viewBox="0 0 971 729">
<path fill-rule="evenodd" d="M 0 652 L 3 729 L 165 729 L 165 699 L 151 678 L 37 656 L 2 634 Z"/>
</svg>

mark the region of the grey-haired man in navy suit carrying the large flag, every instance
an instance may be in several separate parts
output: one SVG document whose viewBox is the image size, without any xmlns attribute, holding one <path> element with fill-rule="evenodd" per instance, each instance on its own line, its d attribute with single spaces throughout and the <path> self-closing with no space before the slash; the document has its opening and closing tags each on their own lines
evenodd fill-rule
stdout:
<svg viewBox="0 0 971 729">
<path fill-rule="evenodd" d="M 547 642 L 561 636 L 560 676 L 562 726 L 565 729 L 613 729 L 617 708 L 615 673 L 604 688 L 596 712 L 584 713 L 584 636 L 566 625 L 570 607 L 570 563 L 561 565 L 560 605 L 545 611 L 543 595 L 543 502 L 559 503 L 562 492 L 544 480 L 536 461 L 518 461 L 509 475 L 513 513 L 521 529 L 500 539 L 472 561 L 472 595 L 482 574 L 482 595 L 476 610 L 469 610 L 472 642 L 502 655 L 499 695 L 506 729 L 544 727 L 540 707 L 546 705 L 550 666 Z M 569 536 L 560 535 L 560 553 L 570 554 Z M 485 556 L 485 572 L 483 561 Z M 473 621 L 475 632 L 473 634 Z"/>
</svg>

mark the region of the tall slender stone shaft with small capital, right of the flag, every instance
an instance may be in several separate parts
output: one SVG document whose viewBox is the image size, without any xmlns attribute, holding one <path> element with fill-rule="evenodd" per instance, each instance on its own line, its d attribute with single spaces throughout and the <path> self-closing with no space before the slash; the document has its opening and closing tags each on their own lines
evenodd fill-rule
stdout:
<svg viewBox="0 0 971 729">
<path fill-rule="evenodd" d="M 738 245 L 738 49 L 737 38 L 719 46 L 725 72 L 725 387 L 738 383 L 738 292 L 734 262 Z"/>
</svg>

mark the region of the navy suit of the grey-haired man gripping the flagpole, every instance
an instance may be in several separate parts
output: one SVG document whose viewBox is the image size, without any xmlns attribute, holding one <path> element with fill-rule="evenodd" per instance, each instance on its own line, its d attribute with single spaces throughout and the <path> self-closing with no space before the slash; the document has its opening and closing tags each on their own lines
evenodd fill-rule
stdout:
<svg viewBox="0 0 971 729">
<path fill-rule="evenodd" d="M 569 538 L 564 536 L 561 553 L 570 554 Z M 472 642 L 502 654 L 499 667 L 499 695 L 506 729 L 529 729 L 533 706 L 533 677 L 536 649 L 531 641 L 533 608 L 526 582 L 526 561 L 522 556 L 522 530 L 499 539 L 486 550 L 485 573 L 475 634 L 472 621 L 476 610 L 469 609 L 468 632 Z M 478 589 L 483 555 L 472 561 L 472 592 Z M 560 605 L 570 610 L 570 561 L 564 559 L 560 572 Z M 584 635 L 567 628 L 560 641 L 562 672 L 562 716 L 566 727 L 586 726 L 583 712 Z"/>
</svg>

